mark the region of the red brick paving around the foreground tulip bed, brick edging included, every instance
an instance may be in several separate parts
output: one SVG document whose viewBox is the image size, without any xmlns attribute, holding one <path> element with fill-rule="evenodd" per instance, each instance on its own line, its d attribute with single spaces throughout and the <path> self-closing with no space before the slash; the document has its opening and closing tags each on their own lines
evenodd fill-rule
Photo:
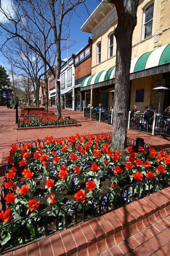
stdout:
<svg viewBox="0 0 170 256">
<path fill-rule="evenodd" d="M 55 111 L 54 108 L 49 110 Z M 16 131 L 15 110 L 0 106 L 0 183 L 3 181 L 6 158 L 12 143 L 36 140 L 37 138 L 43 139 L 46 135 L 60 138 L 76 133 L 82 135 L 112 132 L 111 125 L 83 119 L 82 112 L 64 109 L 62 114 L 76 119 L 78 123 L 81 123 L 81 126 Z M 128 130 L 128 136 L 134 139 L 140 137 L 146 143 L 170 149 L 170 143 L 166 139 L 132 130 Z M 169 199 L 170 189 L 163 190 L 119 210 L 5 255 L 58 256 L 74 255 L 75 253 L 75 255 L 89 256 L 119 256 L 126 255 L 126 253 L 128 255 L 141 255 L 143 253 L 144 256 L 153 253 L 155 253 L 154 255 L 156 253 L 157 255 L 158 253 L 159 255 L 168 255 L 170 234 L 168 233 L 169 217 L 167 216 L 169 214 Z M 149 215 L 150 217 L 148 217 Z"/>
</svg>

